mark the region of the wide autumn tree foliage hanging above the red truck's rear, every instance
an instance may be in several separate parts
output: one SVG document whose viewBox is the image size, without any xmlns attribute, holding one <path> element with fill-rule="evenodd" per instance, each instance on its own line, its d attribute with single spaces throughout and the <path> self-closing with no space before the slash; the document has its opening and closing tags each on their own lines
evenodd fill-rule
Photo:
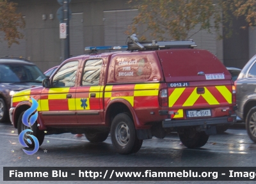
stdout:
<svg viewBox="0 0 256 184">
<path fill-rule="evenodd" d="M 170 37 L 186 40 L 189 31 L 198 24 L 200 30 L 214 27 L 217 32 L 223 26 L 230 36 L 232 15 L 244 16 L 248 26 L 255 25 L 256 21 L 255 0 L 131 0 L 129 3 L 138 8 L 139 13 L 127 34 L 136 33 L 135 25 L 145 25 L 144 33 L 149 31 L 157 40 Z M 211 19 L 214 25 L 210 24 Z M 140 39 L 145 40 L 145 36 L 141 35 Z"/>
</svg>

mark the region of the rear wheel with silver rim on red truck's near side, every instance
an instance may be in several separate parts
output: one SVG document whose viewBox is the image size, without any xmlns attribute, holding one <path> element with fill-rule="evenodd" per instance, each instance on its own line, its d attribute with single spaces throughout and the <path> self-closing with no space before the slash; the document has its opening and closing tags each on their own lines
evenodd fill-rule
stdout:
<svg viewBox="0 0 256 184">
<path fill-rule="evenodd" d="M 111 141 L 120 154 L 136 153 L 143 140 L 138 139 L 132 119 L 124 113 L 117 114 L 111 124 Z"/>
</svg>

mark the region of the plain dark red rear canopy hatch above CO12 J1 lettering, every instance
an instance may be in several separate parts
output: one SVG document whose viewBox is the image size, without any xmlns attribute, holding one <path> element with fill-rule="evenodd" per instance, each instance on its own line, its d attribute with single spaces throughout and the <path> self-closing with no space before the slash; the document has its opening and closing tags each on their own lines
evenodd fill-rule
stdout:
<svg viewBox="0 0 256 184">
<path fill-rule="evenodd" d="M 231 79 L 227 68 L 207 50 L 159 50 L 157 54 L 166 82 Z"/>
</svg>

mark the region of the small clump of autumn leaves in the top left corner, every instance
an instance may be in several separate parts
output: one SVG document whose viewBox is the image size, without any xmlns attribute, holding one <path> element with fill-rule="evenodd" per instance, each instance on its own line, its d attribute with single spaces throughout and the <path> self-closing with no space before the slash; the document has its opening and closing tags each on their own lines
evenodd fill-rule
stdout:
<svg viewBox="0 0 256 184">
<path fill-rule="evenodd" d="M 25 28 L 25 21 L 21 13 L 17 13 L 17 4 L 7 0 L 0 0 L 0 31 L 3 31 L 8 45 L 19 43 L 19 39 L 24 35 L 20 33 L 20 29 Z M 1 42 L 1 40 L 0 40 Z"/>
</svg>

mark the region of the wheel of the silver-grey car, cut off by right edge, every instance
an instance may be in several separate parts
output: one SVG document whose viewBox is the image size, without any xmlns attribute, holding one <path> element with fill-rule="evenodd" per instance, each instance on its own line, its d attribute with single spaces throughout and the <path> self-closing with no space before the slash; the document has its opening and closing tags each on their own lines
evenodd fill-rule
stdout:
<svg viewBox="0 0 256 184">
<path fill-rule="evenodd" d="M 250 139 L 256 143 L 256 107 L 253 107 L 245 119 L 245 127 Z"/>
</svg>

